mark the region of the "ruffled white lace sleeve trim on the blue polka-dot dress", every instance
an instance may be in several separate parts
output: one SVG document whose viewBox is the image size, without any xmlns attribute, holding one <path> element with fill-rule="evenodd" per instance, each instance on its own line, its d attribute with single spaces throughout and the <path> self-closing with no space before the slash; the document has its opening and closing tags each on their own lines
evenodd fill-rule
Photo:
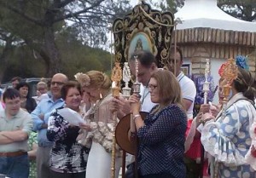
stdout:
<svg viewBox="0 0 256 178">
<path fill-rule="evenodd" d="M 230 141 L 230 138 L 219 133 L 218 140 L 212 137 L 212 133 L 209 132 L 212 126 L 216 128 L 217 124 L 208 123 L 201 132 L 201 143 L 205 150 L 209 152 L 216 161 L 224 163 L 225 166 L 246 164 L 245 158 L 240 152 L 234 149 L 235 145 Z"/>
</svg>

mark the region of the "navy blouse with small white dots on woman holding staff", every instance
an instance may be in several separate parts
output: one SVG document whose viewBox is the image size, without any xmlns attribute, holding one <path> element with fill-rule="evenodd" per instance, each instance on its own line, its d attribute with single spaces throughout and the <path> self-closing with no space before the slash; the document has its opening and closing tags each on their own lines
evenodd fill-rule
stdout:
<svg viewBox="0 0 256 178">
<path fill-rule="evenodd" d="M 152 111 L 145 119 L 145 125 L 137 131 L 139 171 L 141 175 L 170 174 L 185 178 L 186 112 L 177 105 L 166 106 L 155 114 Z"/>
</svg>

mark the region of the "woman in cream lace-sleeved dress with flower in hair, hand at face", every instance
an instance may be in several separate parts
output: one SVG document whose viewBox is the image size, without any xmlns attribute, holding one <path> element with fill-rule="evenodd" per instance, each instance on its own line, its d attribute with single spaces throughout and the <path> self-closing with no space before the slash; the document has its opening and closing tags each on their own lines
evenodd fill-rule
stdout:
<svg viewBox="0 0 256 178">
<path fill-rule="evenodd" d="M 87 131 L 79 142 L 84 146 L 91 145 L 86 178 L 110 178 L 113 114 L 110 112 L 109 104 L 112 99 L 112 82 L 105 73 L 98 71 L 78 73 L 75 78 L 85 88 L 84 91 L 90 97 L 90 101 L 94 103 L 87 113 L 87 124 L 80 125 L 80 128 Z M 88 127 L 88 123 L 90 127 Z M 119 149 L 116 152 L 115 175 L 118 177 L 121 155 Z"/>
</svg>

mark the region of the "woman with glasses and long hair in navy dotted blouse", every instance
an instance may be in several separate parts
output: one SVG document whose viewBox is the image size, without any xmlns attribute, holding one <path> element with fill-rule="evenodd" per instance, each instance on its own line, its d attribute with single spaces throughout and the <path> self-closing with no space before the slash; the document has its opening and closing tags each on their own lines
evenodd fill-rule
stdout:
<svg viewBox="0 0 256 178">
<path fill-rule="evenodd" d="M 148 83 L 152 102 L 158 103 L 143 120 L 138 95 L 131 95 L 131 139 L 137 132 L 138 172 L 143 178 L 185 178 L 183 162 L 187 115 L 181 89 L 172 72 L 159 70 Z"/>
</svg>

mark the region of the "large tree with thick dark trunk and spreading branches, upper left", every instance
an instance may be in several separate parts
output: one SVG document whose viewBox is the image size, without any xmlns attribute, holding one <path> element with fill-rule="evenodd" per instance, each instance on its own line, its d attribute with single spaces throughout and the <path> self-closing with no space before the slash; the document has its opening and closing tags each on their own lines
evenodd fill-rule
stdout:
<svg viewBox="0 0 256 178">
<path fill-rule="evenodd" d="M 48 77 L 61 72 L 55 36 L 63 26 L 72 24 L 84 43 L 99 46 L 106 43 L 106 26 L 127 4 L 127 0 L 0 0 L 0 28 L 20 38 L 44 60 Z"/>
</svg>

